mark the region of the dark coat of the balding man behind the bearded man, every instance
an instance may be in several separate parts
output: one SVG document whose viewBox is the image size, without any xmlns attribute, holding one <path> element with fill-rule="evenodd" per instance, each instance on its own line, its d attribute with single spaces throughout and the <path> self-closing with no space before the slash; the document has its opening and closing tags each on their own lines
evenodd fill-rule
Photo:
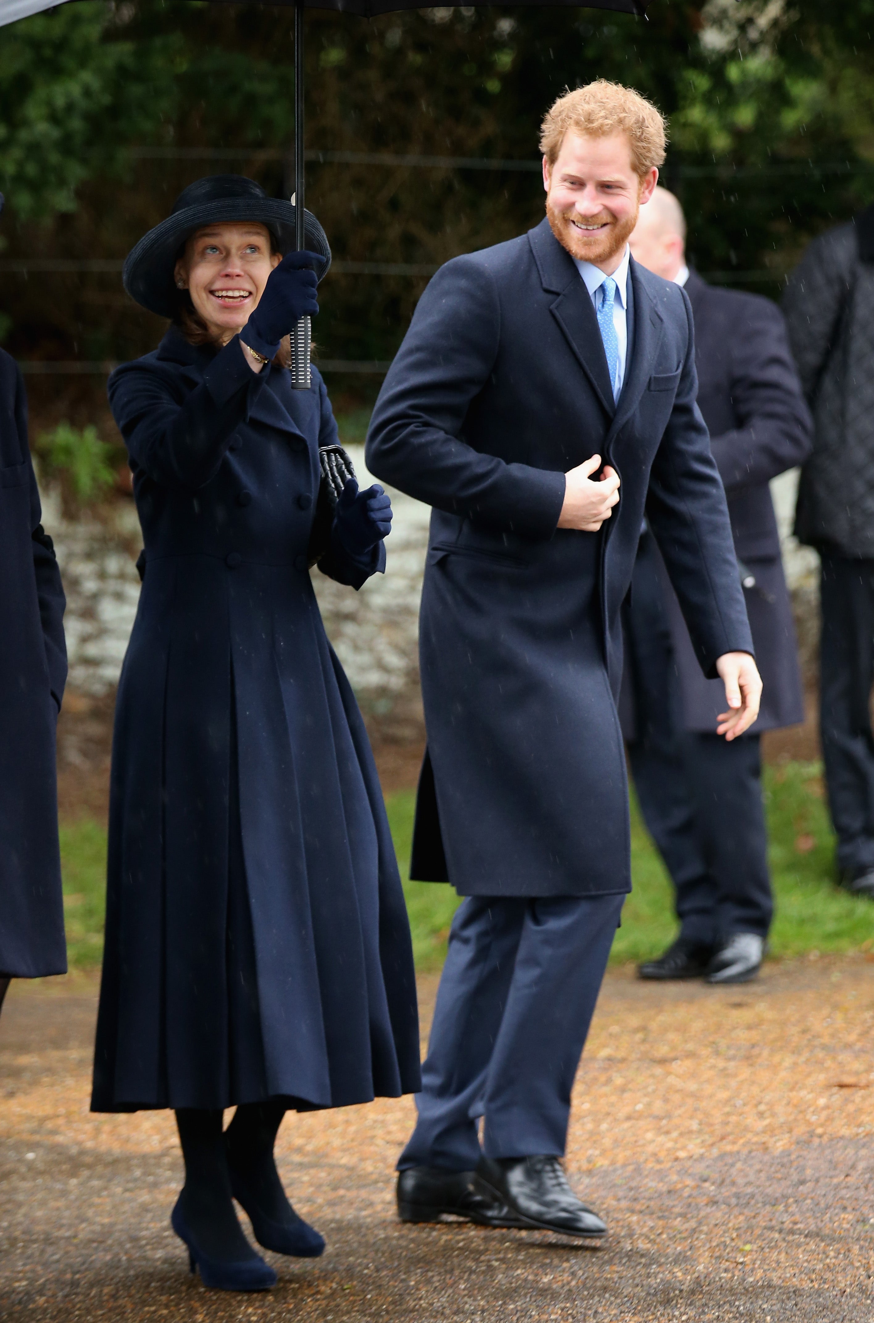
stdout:
<svg viewBox="0 0 874 1323">
<path fill-rule="evenodd" d="M 694 271 L 685 288 L 695 321 L 698 406 L 729 497 L 735 550 L 755 579 L 744 597 L 764 688 L 752 729 L 774 730 L 804 721 L 804 693 L 768 483 L 804 463 L 813 423 L 776 304 L 707 284 Z M 662 587 L 686 726 L 714 732 L 725 687 L 695 665 L 666 576 Z M 632 610 L 635 593 L 632 581 Z"/>
</svg>

